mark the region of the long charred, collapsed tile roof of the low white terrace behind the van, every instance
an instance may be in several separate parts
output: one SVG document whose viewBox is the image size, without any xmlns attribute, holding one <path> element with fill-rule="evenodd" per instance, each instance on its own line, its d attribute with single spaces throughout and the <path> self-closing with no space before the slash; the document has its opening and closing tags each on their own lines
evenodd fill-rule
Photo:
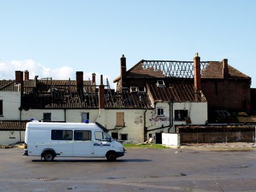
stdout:
<svg viewBox="0 0 256 192">
<path fill-rule="evenodd" d="M 0 81 L 0 91 L 21 91 L 15 81 Z M 23 81 L 21 108 L 98 108 L 98 88 L 84 81 L 77 91 L 76 81 L 30 79 Z M 105 108 L 152 108 L 147 93 L 113 92 L 105 89 Z"/>
</svg>

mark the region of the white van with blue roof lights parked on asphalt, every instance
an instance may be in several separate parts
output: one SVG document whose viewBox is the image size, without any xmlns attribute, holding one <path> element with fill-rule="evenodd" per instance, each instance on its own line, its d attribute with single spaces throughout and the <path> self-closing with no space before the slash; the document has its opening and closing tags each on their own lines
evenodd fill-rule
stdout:
<svg viewBox="0 0 256 192">
<path fill-rule="evenodd" d="M 115 141 L 98 123 L 29 122 L 25 132 L 25 156 L 91 157 L 115 161 L 125 155 L 122 144 Z"/>
</svg>

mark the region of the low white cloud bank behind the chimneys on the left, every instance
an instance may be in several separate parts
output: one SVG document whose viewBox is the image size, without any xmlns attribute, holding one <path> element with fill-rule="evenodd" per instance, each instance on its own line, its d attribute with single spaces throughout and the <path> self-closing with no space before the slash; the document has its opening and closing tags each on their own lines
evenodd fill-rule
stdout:
<svg viewBox="0 0 256 192">
<path fill-rule="evenodd" d="M 38 75 L 38 79 L 52 77 L 53 79 L 75 79 L 75 71 L 71 67 L 59 67 L 49 68 L 44 67 L 40 63 L 36 63 L 32 59 L 26 59 L 24 61 L 13 60 L 11 62 L 0 62 L 0 79 L 15 79 L 15 71 L 29 71 L 30 79 L 34 79 L 35 75 Z M 92 73 L 84 72 L 84 81 L 92 81 Z M 100 84 L 100 73 L 96 73 L 96 84 Z M 106 85 L 106 79 L 110 84 L 110 88 L 114 89 L 115 84 L 110 80 L 110 75 L 103 75 L 103 84 Z"/>
</svg>

